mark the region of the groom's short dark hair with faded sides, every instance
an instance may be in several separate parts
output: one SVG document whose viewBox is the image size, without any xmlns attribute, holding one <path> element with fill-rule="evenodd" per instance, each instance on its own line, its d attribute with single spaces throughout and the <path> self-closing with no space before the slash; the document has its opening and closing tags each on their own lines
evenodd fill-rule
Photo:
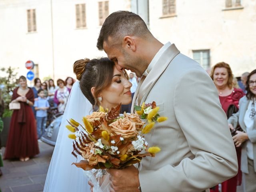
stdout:
<svg viewBox="0 0 256 192">
<path fill-rule="evenodd" d="M 118 43 L 120 38 L 126 35 L 146 37 L 150 31 L 144 20 L 137 14 L 129 11 L 117 11 L 110 14 L 104 21 L 98 37 L 97 48 L 103 50 L 103 42 L 108 37 L 115 39 Z M 120 43 L 120 42 L 119 42 Z"/>
</svg>

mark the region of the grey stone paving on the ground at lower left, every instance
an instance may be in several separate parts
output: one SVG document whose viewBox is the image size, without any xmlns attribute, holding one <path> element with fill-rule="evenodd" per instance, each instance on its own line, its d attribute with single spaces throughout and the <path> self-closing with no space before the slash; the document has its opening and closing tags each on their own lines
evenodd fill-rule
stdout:
<svg viewBox="0 0 256 192">
<path fill-rule="evenodd" d="M 40 154 L 27 162 L 4 160 L 0 177 L 2 192 L 42 192 L 54 147 L 39 143 Z M 2 148 L 4 154 L 4 148 Z M 238 186 L 237 192 L 243 192 Z"/>
</svg>

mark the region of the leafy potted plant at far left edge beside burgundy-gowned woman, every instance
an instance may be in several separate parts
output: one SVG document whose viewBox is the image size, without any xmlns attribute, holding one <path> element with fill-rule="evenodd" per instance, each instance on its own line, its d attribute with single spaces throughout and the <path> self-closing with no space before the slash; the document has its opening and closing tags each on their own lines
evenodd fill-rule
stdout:
<svg viewBox="0 0 256 192">
<path fill-rule="evenodd" d="M 0 90 L 1 90 L 1 97 L 4 100 L 4 114 L 2 116 L 2 120 L 4 122 L 4 130 L 0 134 L 1 137 L 1 146 L 6 146 L 6 140 L 8 137 L 11 117 L 12 117 L 12 110 L 9 110 L 9 103 L 12 99 L 12 91 L 17 86 L 16 76 L 17 72 L 15 72 L 15 68 L 8 67 L 8 68 L 0 68 L 0 70 L 6 74 L 6 76 L 0 77 Z"/>
</svg>

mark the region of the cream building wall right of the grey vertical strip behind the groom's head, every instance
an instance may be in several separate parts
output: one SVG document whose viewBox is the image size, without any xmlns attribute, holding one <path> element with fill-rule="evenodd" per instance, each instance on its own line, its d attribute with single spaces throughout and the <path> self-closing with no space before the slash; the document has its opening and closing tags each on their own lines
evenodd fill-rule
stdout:
<svg viewBox="0 0 256 192">
<path fill-rule="evenodd" d="M 256 69 L 255 0 L 150 0 L 149 18 L 156 38 L 204 68 L 224 61 L 235 76 Z"/>
</svg>

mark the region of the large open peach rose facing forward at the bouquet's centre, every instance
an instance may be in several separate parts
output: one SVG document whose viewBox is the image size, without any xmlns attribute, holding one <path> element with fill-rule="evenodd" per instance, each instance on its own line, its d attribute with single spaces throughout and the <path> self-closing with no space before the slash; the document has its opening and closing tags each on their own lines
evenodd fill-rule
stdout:
<svg viewBox="0 0 256 192">
<path fill-rule="evenodd" d="M 114 135 L 121 135 L 122 138 L 131 138 L 136 136 L 136 123 L 131 122 L 128 117 L 120 118 L 109 125 Z"/>
</svg>

